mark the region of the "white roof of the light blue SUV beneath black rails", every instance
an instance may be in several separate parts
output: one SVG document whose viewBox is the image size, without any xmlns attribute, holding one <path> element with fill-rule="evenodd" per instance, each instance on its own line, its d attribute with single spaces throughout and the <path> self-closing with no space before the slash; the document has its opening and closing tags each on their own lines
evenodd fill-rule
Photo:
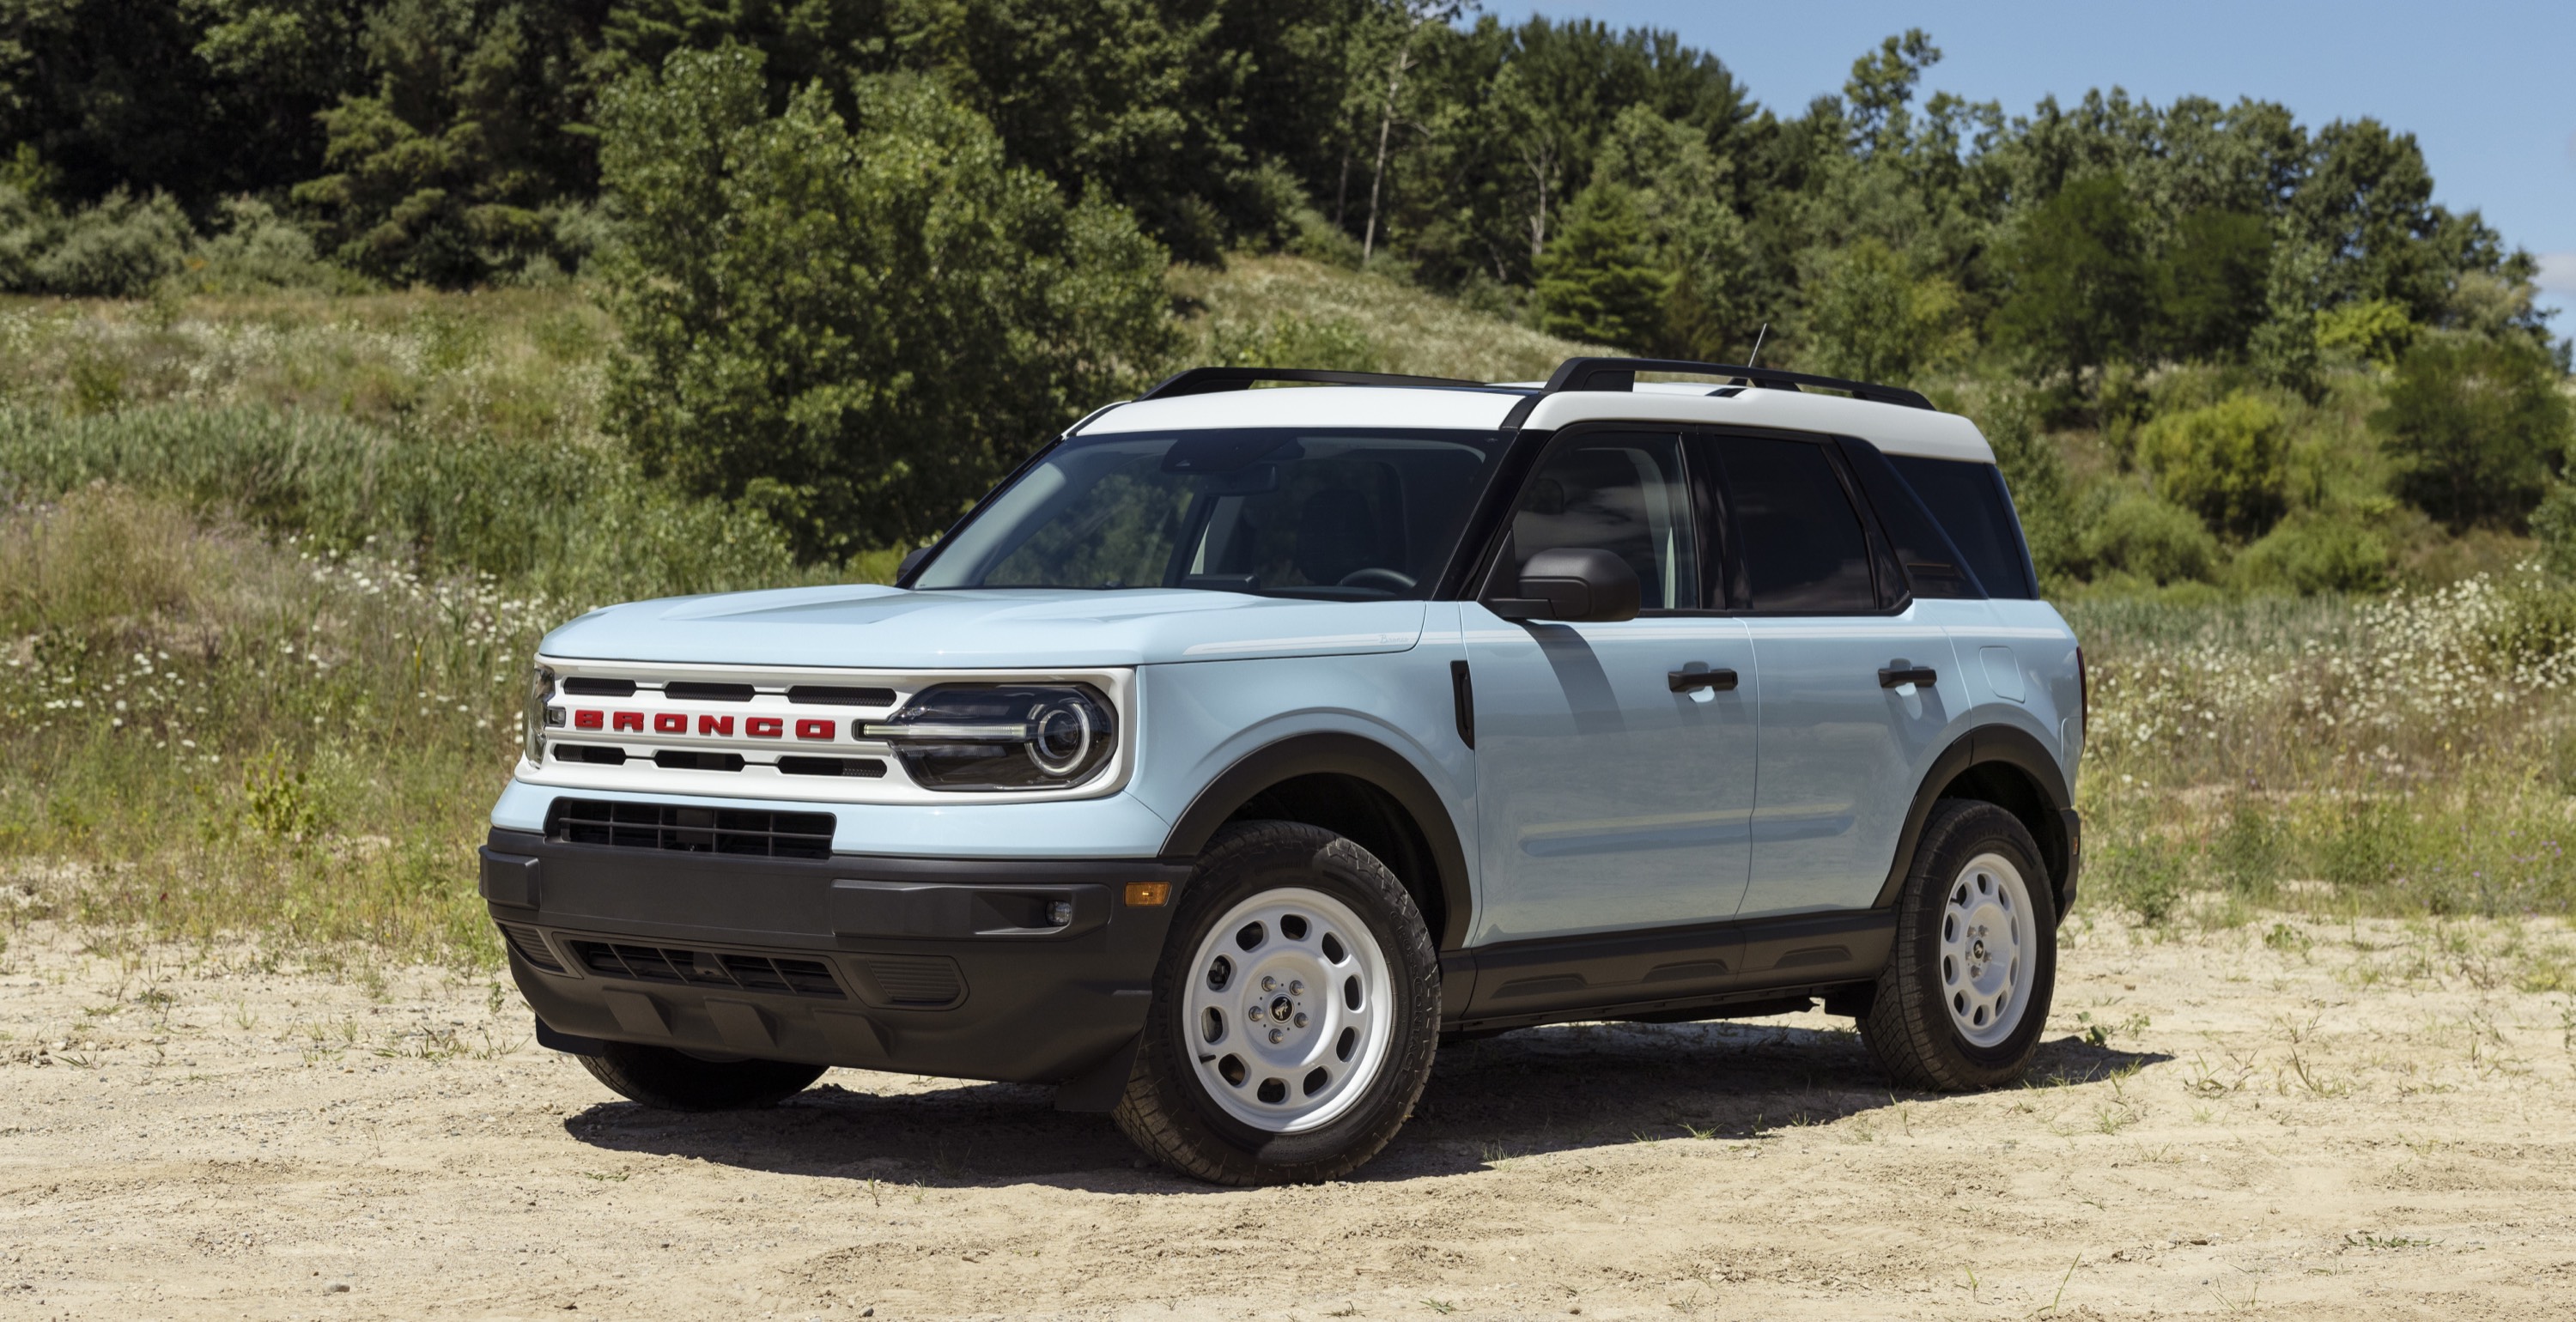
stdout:
<svg viewBox="0 0 2576 1322">
<path fill-rule="evenodd" d="M 1535 389 L 1535 381 L 1528 384 Z M 1404 387 L 1262 387 L 1113 405 L 1082 436 L 1200 428 L 1461 428 L 1494 430 L 1525 394 Z M 1638 381 L 1633 392 L 1548 394 L 1522 423 L 1556 430 L 1574 423 L 1695 423 L 1857 436 L 1888 454 L 1994 464 L 1976 423 L 1955 412 L 1880 405 L 1798 389 L 1736 389 Z"/>
</svg>

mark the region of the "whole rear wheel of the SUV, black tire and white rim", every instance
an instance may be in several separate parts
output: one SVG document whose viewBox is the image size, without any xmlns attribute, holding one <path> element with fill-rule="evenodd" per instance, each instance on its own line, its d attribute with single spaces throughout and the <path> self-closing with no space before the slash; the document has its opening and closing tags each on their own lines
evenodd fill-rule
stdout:
<svg viewBox="0 0 2576 1322">
<path fill-rule="evenodd" d="M 2056 990 L 2053 899 L 2017 817 L 1973 799 L 1932 809 L 1896 899 L 1896 951 L 1860 1018 L 1896 1082 L 1971 1090 L 2022 1077 Z"/>
</svg>

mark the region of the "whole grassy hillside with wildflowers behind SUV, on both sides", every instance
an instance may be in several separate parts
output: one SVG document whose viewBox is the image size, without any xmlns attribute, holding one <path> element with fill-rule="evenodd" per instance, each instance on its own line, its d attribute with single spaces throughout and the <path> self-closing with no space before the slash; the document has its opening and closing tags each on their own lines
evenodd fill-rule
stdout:
<svg viewBox="0 0 2576 1322">
<path fill-rule="evenodd" d="M 1198 361 L 1530 379 L 1579 350 L 1296 258 L 1185 268 L 1175 294 Z M 0 307 L 13 920 L 75 917 L 106 953 L 495 961 L 471 848 L 536 637 L 891 562 L 799 567 L 757 518 L 647 482 L 600 433 L 611 353 L 577 291 Z M 2071 464 L 2107 464 L 2081 443 Z M 2092 902 L 2576 905 L 2576 606 L 2537 572 L 2069 613 L 2094 662 Z"/>
</svg>

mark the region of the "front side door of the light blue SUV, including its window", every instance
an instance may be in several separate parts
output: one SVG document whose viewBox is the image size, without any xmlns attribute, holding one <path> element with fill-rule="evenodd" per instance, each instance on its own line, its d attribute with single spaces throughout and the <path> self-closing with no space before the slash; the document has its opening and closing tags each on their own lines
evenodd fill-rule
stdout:
<svg viewBox="0 0 2576 1322">
<path fill-rule="evenodd" d="M 1558 546 L 1613 551 L 1643 608 L 1512 624 L 1466 603 L 1484 889 L 1471 943 L 1734 917 L 1757 678 L 1744 624 L 1700 611 L 1703 523 L 1680 430 L 1561 438 L 1522 490 L 1515 567 Z"/>
</svg>

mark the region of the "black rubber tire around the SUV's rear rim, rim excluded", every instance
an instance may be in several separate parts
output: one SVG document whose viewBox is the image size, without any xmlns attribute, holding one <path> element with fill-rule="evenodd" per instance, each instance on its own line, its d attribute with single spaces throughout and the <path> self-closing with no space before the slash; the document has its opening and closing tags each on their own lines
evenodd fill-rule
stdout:
<svg viewBox="0 0 2576 1322">
<path fill-rule="evenodd" d="M 1953 897 L 1971 897 L 1981 881 L 1968 866 L 1984 856 L 2002 858 L 2020 874 L 2022 915 L 2030 925 L 2022 959 L 2025 977 L 2014 977 L 2012 1000 L 2020 1020 L 1999 1041 L 1971 1041 L 1968 1028 L 1953 1015 L 1953 997 L 1971 1005 L 1973 987 L 1947 982 L 1942 964 L 1942 923 Z M 1996 886 L 1994 876 L 1984 879 Z M 1971 889 L 1963 889 L 1971 886 Z M 1878 1064 L 1904 1087 L 1929 1093 L 1968 1093 L 1999 1087 L 2030 1067 L 2030 1054 L 2048 1028 L 2048 1000 L 2058 977 L 2058 912 L 2056 889 L 2040 863 L 2040 848 L 2030 840 L 2009 812 L 1976 799 L 1942 799 L 1924 822 L 1922 845 L 1914 850 L 1914 871 L 1896 897 L 1896 948 L 1888 969 L 1878 974 L 1870 1010 L 1860 1015 L 1860 1041 L 1870 1046 Z M 1963 987 L 1963 990 L 1960 990 Z M 1971 1010 L 1963 1010 L 1973 1015 Z M 1996 1013 L 1999 1028 L 2002 1013 Z"/>
</svg>

